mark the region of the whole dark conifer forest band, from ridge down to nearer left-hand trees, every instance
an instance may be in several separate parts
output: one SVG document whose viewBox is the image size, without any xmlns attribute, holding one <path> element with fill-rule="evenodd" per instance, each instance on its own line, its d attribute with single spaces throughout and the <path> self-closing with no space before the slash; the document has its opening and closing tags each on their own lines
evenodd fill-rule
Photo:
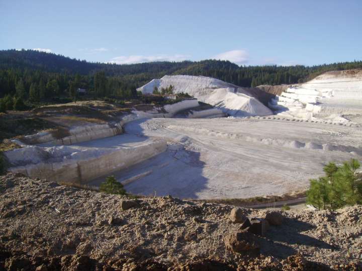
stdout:
<svg viewBox="0 0 362 271">
<path fill-rule="evenodd" d="M 76 89 L 85 88 L 89 98 L 126 99 L 137 96 L 137 87 L 166 74 L 211 76 L 250 87 L 304 82 L 326 71 L 354 68 L 362 68 L 362 61 L 312 67 L 239 67 L 220 60 L 116 65 L 91 63 L 33 50 L 3 50 L 0 51 L 0 98 L 5 97 L 9 104 L 14 98 L 35 103 L 57 102 L 59 99 L 75 99 Z"/>
</svg>

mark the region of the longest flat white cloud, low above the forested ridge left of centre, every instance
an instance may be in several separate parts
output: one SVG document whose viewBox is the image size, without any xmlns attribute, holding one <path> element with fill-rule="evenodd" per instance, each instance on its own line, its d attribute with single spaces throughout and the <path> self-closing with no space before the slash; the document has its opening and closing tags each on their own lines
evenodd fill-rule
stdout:
<svg viewBox="0 0 362 271">
<path fill-rule="evenodd" d="M 188 58 L 190 58 L 188 55 L 119 56 L 112 58 L 109 63 L 134 64 L 153 61 L 183 61 Z"/>
</svg>

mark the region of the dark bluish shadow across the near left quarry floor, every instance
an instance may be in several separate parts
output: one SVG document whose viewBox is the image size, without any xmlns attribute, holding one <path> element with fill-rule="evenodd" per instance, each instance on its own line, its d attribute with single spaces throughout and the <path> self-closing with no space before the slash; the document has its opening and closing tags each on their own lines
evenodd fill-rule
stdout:
<svg viewBox="0 0 362 271">
<path fill-rule="evenodd" d="M 165 152 L 112 175 L 125 184 L 128 193 L 145 196 L 198 198 L 206 189 L 208 179 L 203 173 L 205 163 L 200 153 L 187 151 L 182 146 L 170 146 Z M 105 178 L 90 185 L 99 186 Z"/>
</svg>

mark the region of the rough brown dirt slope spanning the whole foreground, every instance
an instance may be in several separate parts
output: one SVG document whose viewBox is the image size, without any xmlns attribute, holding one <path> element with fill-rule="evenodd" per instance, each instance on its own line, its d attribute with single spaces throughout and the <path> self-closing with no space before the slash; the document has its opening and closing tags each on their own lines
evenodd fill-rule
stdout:
<svg viewBox="0 0 362 271">
<path fill-rule="evenodd" d="M 255 235 L 260 251 L 243 254 L 224 244 L 240 227 L 231 209 L 171 197 L 131 201 L 9 173 L 0 177 L 0 269 L 360 270 L 361 206 L 282 212 L 282 225 Z"/>
</svg>

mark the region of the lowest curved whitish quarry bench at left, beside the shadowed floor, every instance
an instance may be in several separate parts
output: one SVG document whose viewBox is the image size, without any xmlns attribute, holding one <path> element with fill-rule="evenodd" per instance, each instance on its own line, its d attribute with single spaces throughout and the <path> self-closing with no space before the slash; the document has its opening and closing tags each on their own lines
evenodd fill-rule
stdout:
<svg viewBox="0 0 362 271">
<path fill-rule="evenodd" d="M 8 170 L 55 182 L 87 183 L 149 159 L 167 148 L 163 140 L 145 141 L 129 148 L 27 146 L 6 152 L 14 165 Z"/>
</svg>

